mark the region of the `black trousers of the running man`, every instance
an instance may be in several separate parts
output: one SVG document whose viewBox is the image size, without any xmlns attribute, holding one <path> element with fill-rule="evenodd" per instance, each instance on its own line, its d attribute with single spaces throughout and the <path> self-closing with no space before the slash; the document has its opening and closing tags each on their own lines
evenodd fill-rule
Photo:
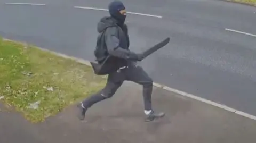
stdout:
<svg viewBox="0 0 256 143">
<path fill-rule="evenodd" d="M 106 86 L 89 98 L 83 101 L 85 108 L 91 107 L 93 104 L 101 100 L 111 98 L 124 81 L 133 81 L 143 86 L 143 101 L 145 110 L 151 110 L 151 94 L 153 90 L 153 81 L 149 75 L 141 68 L 141 66 L 131 64 L 123 69 L 108 75 Z"/>
</svg>

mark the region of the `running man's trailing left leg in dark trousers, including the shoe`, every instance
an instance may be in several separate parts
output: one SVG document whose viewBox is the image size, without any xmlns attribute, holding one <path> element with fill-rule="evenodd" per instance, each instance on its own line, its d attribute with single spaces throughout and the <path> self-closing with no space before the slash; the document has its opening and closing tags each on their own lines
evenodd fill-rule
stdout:
<svg viewBox="0 0 256 143">
<path fill-rule="evenodd" d="M 106 86 L 97 92 L 94 95 L 91 95 L 89 98 L 86 98 L 81 104 L 78 105 L 80 109 L 80 113 L 78 115 L 80 120 L 84 119 L 85 112 L 88 108 L 90 108 L 93 104 L 100 102 L 101 100 L 105 100 L 107 98 L 112 97 L 117 89 L 122 85 L 124 81 L 123 73 L 113 73 L 108 76 Z"/>
</svg>

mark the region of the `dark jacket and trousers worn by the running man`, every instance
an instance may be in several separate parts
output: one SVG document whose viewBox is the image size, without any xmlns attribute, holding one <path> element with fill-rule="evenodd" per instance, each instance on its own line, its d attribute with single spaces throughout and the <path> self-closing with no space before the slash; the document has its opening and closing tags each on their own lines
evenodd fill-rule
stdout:
<svg viewBox="0 0 256 143">
<path fill-rule="evenodd" d="M 106 51 L 105 54 L 96 57 L 110 59 L 107 60 L 105 67 L 114 67 L 113 71 L 108 73 L 106 86 L 97 94 L 85 99 L 84 108 L 87 109 L 101 100 L 112 97 L 123 82 L 128 80 L 143 86 L 145 110 L 151 110 L 153 81 L 140 66 L 135 65 L 134 61 L 138 60 L 138 55 L 129 50 L 130 41 L 126 24 L 118 23 L 113 17 L 104 17 L 98 23 L 97 29 L 100 33 L 97 46 L 105 46 L 101 49 Z"/>
</svg>

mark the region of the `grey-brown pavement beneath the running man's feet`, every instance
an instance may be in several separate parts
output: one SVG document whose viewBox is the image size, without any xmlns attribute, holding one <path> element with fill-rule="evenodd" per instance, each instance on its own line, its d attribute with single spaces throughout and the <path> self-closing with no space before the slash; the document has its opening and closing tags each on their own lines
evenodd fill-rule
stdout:
<svg viewBox="0 0 256 143">
<path fill-rule="evenodd" d="M 256 140 L 256 121 L 218 107 L 161 88 L 154 88 L 153 105 L 155 110 L 166 112 L 166 116 L 143 122 L 142 88 L 125 82 L 113 98 L 90 108 L 82 122 L 75 116 L 75 106 L 39 124 L 30 124 L 18 113 L 0 112 L 0 142 L 254 143 Z"/>
</svg>

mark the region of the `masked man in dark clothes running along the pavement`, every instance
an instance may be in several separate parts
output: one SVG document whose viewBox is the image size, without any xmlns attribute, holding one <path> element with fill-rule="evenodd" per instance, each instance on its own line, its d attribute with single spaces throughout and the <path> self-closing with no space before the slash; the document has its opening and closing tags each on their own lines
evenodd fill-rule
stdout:
<svg viewBox="0 0 256 143">
<path fill-rule="evenodd" d="M 142 54 L 135 54 L 129 50 L 128 29 L 125 22 L 126 10 L 121 1 L 113 1 L 109 4 L 109 17 L 104 17 L 98 23 L 97 48 L 106 49 L 103 54 L 95 56 L 99 63 L 106 60 L 107 55 L 112 60 L 108 61 L 112 71 L 108 73 L 107 84 L 105 88 L 97 94 L 85 99 L 79 107 L 79 119 L 83 120 L 88 108 L 101 100 L 112 97 L 123 81 L 133 81 L 143 86 L 143 101 L 146 118 L 145 121 L 152 121 L 163 117 L 165 114 L 155 113 L 151 108 L 151 94 L 153 90 L 153 81 L 148 74 L 135 61 L 143 59 Z M 103 59 L 103 60 L 102 60 Z"/>
</svg>

